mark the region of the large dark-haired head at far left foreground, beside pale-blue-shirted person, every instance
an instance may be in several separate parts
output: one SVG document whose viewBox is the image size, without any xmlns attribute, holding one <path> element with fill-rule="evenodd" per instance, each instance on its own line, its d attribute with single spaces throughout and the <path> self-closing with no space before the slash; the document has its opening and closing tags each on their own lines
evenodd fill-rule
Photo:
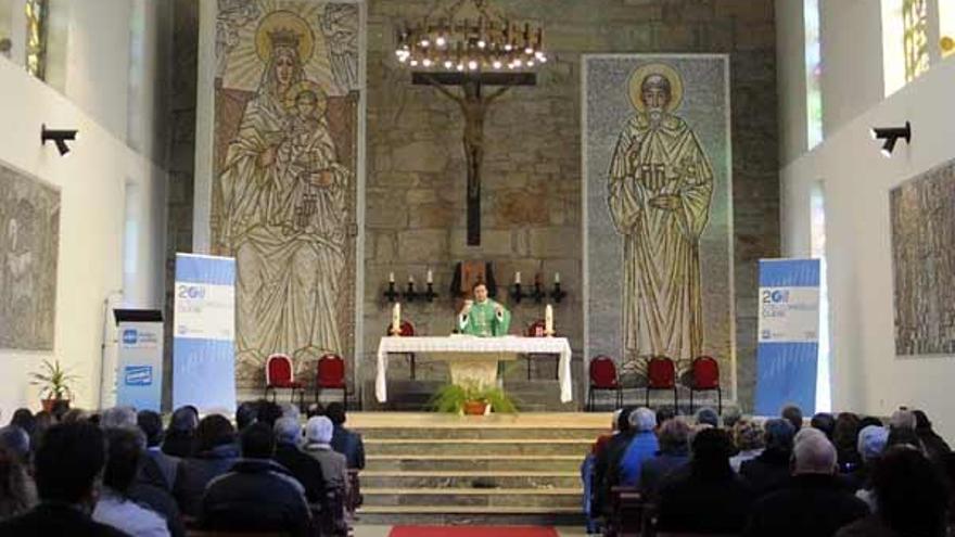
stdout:
<svg viewBox="0 0 955 537">
<path fill-rule="evenodd" d="M 84 422 L 51 426 L 40 439 L 34 458 L 40 499 L 92 508 L 96 481 L 105 460 L 100 427 Z"/>
</svg>

